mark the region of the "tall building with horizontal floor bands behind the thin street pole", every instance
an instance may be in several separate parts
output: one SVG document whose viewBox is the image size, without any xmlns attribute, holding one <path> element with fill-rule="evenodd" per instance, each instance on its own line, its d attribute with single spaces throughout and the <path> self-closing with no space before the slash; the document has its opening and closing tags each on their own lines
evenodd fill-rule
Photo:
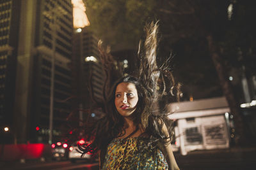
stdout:
<svg viewBox="0 0 256 170">
<path fill-rule="evenodd" d="M 35 104 L 31 106 L 31 110 L 39 114 L 33 118 L 36 121 L 31 124 L 29 130 L 30 134 L 33 132 L 37 134 L 37 136 L 35 135 L 36 141 L 49 140 L 51 143 L 61 135 L 61 129 L 65 125 L 71 107 L 70 101 L 65 100 L 72 96 L 70 67 L 73 29 L 72 4 L 68 0 L 45 0 L 40 3 L 37 6 L 40 12 L 37 13 L 39 17 L 36 22 L 36 35 L 38 36 L 35 39 L 37 54 L 33 68 L 35 71 L 33 102 Z M 53 87 L 51 87 L 52 81 L 54 81 Z M 52 89 L 54 90 L 51 94 Z M 53 99 L 52 103 L 51 99 Z M 33 113 L 31 114 L 33 115 Z M 39 132 L 35 132 L 36 127 L 39 127 Z"/>
</svg>

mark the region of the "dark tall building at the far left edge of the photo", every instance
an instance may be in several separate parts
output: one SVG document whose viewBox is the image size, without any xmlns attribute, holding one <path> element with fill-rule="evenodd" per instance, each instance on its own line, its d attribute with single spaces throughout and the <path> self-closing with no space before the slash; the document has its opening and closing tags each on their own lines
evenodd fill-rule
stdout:
<svg viewBox="0 0 256 170">
<path fill-rule="evenodd" d="M 0 143 L 13 141 L 20 1 L 0 1 Z"/>
</svg>

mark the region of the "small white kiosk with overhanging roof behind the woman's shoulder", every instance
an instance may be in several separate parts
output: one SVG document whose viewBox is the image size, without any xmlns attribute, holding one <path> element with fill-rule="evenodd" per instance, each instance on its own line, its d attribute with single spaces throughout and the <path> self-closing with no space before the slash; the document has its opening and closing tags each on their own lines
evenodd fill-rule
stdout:
<svg viewBox="0 0 256 170">
<path fill-rule="evenodd" d="M 168 105 L 175 120 L 174 150 L 182 155 L 192 150 L 228 148 L 230 144 L 230 108 L 225 97 L 186 101 Z"/>
</svg>

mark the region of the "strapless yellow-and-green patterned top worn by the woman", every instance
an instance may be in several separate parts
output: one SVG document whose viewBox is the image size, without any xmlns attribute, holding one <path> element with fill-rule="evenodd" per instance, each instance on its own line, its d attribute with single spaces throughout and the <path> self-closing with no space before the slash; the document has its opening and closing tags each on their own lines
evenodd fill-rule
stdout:
<svg viewBox="0 0 256 170">
<path fill-rule="evenodd" d="M 168 169 L 161 150 L 147 144 L 148 139 L 143 137 L 113 139 L 102 169 Z"/>
</svg>

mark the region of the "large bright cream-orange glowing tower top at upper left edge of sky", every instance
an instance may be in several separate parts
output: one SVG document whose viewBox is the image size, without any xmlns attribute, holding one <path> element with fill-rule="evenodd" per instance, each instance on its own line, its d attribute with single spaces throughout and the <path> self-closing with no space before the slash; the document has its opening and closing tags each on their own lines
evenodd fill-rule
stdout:
<svg viewBox="0 0 256 170">
<path fill-rule="evenodd" d="M 71 3 L 73 4 L 74 28 L 83 28 L 90 25 L 88 17 L 85 13 L 86 8 L 83 0 L 72 0 Z"/>
</svg>

